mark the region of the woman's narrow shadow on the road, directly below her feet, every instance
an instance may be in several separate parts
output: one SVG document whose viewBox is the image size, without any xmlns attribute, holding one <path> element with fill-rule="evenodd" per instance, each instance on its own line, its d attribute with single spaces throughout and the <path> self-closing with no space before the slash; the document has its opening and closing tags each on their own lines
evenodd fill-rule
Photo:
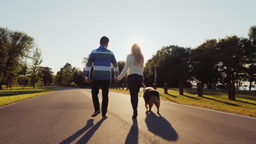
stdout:
<svg viewBox="0 0 256 144">
<path fill-rule="evenodd" d="M 126 137 L 125 143 L 138 143 L 138 121 L 137 119 L 132 120 L 132 127 L 129 131 L 129 134 Z"/>
</svg>

